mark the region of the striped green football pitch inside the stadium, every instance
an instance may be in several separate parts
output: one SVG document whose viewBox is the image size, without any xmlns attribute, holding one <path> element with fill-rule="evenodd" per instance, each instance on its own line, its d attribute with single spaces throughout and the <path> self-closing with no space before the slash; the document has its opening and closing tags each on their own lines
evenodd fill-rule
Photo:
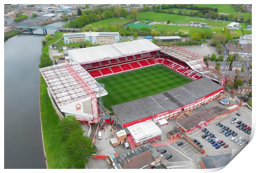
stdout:
<svg viewBox="0 0 256 173">
<path fill-rule="evenodd" d="M 164 65 L 154 65 L 96 80 L 105 84 L 109 93 L 103 96 L 103 100 L 105 108 L 110 112 L 112 105 L 151 96 L 192 81 Z"/>
</svg>

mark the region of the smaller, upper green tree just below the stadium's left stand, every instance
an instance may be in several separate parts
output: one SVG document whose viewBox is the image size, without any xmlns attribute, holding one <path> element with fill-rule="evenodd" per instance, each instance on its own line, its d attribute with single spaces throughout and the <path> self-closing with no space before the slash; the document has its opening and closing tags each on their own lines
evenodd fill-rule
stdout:
<svg viewBox="0 0 256 173">
<path fill-rule="evenodd" d="M 63 141 L 69 138 L 69 135 L 72 131 L 81 129 L 79 122 L 76 120 L 76 117 L 73 115 L 67 115 L 59 122 L 59 132 Z"/>
</svg>

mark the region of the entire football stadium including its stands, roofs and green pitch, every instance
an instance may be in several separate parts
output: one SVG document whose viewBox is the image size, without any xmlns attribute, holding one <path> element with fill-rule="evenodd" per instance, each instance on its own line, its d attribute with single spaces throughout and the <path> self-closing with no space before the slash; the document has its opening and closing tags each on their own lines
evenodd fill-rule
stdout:
<svg viewBox="0 0 256 173">
<path fill-rule="evenodd" d="M 172 119 L 213 101 L 225 77 L 203 56 L 180 47 L 134 40 L 68 51 L 69 63 L 40 69 L 52 103 L 84 123 L 121 127 Z"/>
</svg>

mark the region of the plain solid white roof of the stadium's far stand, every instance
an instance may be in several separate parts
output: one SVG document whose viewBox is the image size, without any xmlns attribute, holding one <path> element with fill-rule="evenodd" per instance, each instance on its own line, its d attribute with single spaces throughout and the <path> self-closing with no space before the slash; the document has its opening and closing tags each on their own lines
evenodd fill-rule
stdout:
<svg viewBox="0 0 256 173">
<path fill-rule="evenodd" d="M 146 53 L 149 51 L 161 50 L 160 47 L 147 39 L 134 40 L 130 42 L 121 42 L 106 44 L 102 46 L 86 47 L 82 49 L 69 50 L 69 58 L 77 63 L 91 63 L 104 59 L 113 59 L 123 56 Z"/>
</svg>

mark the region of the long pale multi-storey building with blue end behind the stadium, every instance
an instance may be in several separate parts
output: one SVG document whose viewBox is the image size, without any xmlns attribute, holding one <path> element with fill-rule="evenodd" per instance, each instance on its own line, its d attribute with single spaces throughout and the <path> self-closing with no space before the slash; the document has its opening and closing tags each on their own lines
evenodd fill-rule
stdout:
<svg viewBox="0 0 256 173">
<path fill-rule="evenodd" d="M 86 32 L 86 33 L 67 33 L 63 34 L 64 42 L 68 43 L 77 43 L 85 42 L 89 40 L 91 43 L 99 44 L 112 44 L 119 42 L 119 33 L 112 32 Z"/>
</svg>

